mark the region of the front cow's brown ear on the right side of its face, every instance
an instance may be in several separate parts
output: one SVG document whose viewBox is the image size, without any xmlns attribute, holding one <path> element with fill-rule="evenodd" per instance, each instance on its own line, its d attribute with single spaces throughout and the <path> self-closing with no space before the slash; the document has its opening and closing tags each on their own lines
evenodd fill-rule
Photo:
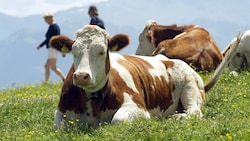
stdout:
<svg viewBox="0 0 250 141">
<path fill-rule="evenodd" d="M 129 36 L 126 34 L 117 34 L 109 39 L 109 50 L 119 51 L 126 47 L 130 42 Z"/>
</svg>

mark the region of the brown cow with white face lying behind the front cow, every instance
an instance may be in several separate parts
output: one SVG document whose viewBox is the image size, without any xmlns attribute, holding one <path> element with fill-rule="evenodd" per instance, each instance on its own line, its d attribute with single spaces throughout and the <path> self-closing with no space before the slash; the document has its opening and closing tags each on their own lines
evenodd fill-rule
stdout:
<svg viewBox="0 0 250 141">
<path fill-rule="evenodd" d="M 222 54 L 211 35 L 202 27 L 162 26 L 149 20 L 139 36 L 137 55 L 164 54 L 181 59 L 199 71 L 211 71 L 222 61 Z"/>
</svg>

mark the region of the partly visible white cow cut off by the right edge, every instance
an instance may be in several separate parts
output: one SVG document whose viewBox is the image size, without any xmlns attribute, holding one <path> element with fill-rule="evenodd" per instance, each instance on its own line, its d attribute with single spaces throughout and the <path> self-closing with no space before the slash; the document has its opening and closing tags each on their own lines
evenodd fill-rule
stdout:
<svg viewBox="0 0 250 141">
<path fill-rule="evenodd" d="M 236 38 L 231 42 L 235 40 Z M 230 47 L 225 48 L 222 51 L 222 55 L 225 56 L 228 50 L 230 50 Z M 229 63 L 228 71 L 230 74 L 237 76 L 237 72 L 242 68 L 250 68 L 250 30 L 243 33 L 236 55 Z"/>
</svg>

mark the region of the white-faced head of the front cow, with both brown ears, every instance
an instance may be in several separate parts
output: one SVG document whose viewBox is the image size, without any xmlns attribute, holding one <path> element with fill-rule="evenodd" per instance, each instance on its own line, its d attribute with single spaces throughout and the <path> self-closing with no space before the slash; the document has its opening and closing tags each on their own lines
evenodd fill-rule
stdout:
<svg viewBox="0 0 250 141">
<path fill-rule="evenodd" d="M 128 35 L 117 34 L 110 38 L 105 30 L 95 25 L 86 25 L 79 29 L 75 41 L 67 42 L 71 46 L 57 43 L 55 39 L 59 40 L 56 37 L 50 40 L 52 47 L 59 51 L 68 49 L 68 52 L 72 52 L 75 68 L 73 83 L 86 92 L 96 92 L 106 84 L 110 70 L 109 51 L 119 51 L 129 44 Z"/>
</svg>

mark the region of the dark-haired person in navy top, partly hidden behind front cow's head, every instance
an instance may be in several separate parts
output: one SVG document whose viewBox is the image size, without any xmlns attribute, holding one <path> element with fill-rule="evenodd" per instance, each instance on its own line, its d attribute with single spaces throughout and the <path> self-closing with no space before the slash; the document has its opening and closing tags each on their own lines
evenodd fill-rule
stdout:
<svg viewBox="0 0 250 141">
<path fill-rule="evenodd" d="M 99 14 L 98 14 L 98 10 L 97 10 L 96 6 L 91 5 L 89 7 L 88 14 L 89 14 L 89 16 L 91 18 L 89 24 L 98 25 L 102 29 L 105 29 L 103 20 L 100 17 L 98 17 Z"/>
</svg>

